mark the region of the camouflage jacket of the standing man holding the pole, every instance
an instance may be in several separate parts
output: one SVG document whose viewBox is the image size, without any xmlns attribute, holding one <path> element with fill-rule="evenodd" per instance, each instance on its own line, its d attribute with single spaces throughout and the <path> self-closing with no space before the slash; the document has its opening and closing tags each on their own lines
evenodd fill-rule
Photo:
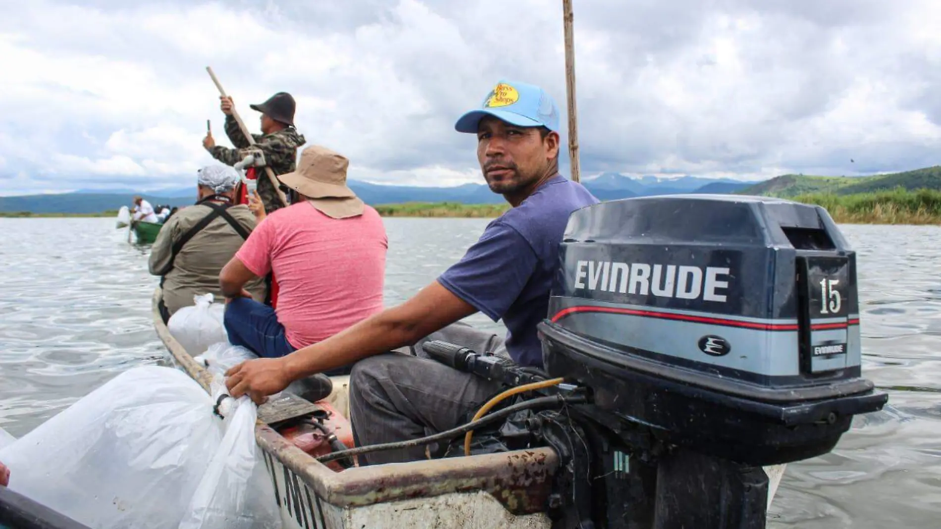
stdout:
<svg viewBox="0 0 941 529">
<path fill-rule="evenodd" d="M 235 146 L 235 149 L 216 145 L 209 152 L 223 164 L 234 166 L 242 158 L 245 158 L 249 152 L 249 145 L 247 138 L 239 129 L 238 123 L 231 116 L 226 116 L 226 136 L 229 136 L 229 140 Z M 264 162 L 274 171 L 275 175 L 295 170 L 297 148 L 306 143 L 304 136 L 298 133 L 297 129 L 288 127 L 271 134 L 253 134 L 251 136 L 255 138 L 254 148 L 264 153 Z"/>
</svg>

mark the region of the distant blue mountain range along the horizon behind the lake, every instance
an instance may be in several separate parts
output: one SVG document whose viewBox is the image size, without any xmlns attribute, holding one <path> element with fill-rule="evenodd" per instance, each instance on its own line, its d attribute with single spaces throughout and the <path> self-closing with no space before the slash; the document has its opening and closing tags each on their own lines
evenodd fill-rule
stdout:
<svg viewBox="0 0 941 529">
<path fill-rule="evenodd" d="M 502 203 L 503 197 L 490 191 L 486 184 L 463 184 L 453 187 L 419 187 L 412 185 L 370 184 L 356 180 L 348 181 L 360 199 L 368 204 L 393 204 L 403 202 L 458 202 L 464 204 Z M 683 176 L 664 179 L 654 176 L 631 178 L 614 172 L 606 172 L 594 178 L 582 180 L 582 184 L 598 200 L 630 199 L 651 195 L 678 193 L 734 193 L 748 186 L 728 179 Z M 196 197 L 196 187 L 161 189 L 139 192 L 133 189 L 80 189 L 72 193 L 56 195 L 24 195 L 0 197 L 0 212 L 31 213 L 75 213 L 89 214 L 117 210 L 130 205 L 131 198 L 139 194 L 152 204 L 185 205 Z"/>
</svg>

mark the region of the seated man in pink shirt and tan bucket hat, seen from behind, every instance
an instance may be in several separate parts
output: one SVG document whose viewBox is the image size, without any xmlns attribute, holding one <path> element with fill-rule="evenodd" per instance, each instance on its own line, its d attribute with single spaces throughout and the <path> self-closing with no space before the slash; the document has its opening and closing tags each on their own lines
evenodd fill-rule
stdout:
<svg viewBox="0 0 941 529">
<path fill-rule="evenodd" d="M 269 216 L 255 208 L 258 226 L 219 274 L 232 345 L 282 357 L 382 311 L 388 239 L 379 214 L 346 185 L 348 167 L 343 155 L 311 146 L 278 177 L 292 205 Z M 272 271 L 277 311 L 244 290 Z"/>
</svg>

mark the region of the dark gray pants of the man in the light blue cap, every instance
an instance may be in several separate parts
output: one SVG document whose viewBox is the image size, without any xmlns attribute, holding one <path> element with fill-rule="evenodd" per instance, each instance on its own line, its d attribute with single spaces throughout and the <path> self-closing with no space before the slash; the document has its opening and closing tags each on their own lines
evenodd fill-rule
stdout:
<svg viewBox="0 0 941 529">
<path fill-rule="evenodd" d="M 357 362 L 350 374 L 350 421 L 357 446 L 408 441 L 449 430 L 467 421 L 500 384 L 427 359 L 422 344 L 443 340 L 477 353 L 506 357 L 501 337 L 456 323 L 412 347 L 412 355 L 387 353 Z M 445 446 L 430 445 L 432 456 Z M 373 452 L 359 464 L 381 464 L 425 458 L 425 446 Z"/>
</svg>

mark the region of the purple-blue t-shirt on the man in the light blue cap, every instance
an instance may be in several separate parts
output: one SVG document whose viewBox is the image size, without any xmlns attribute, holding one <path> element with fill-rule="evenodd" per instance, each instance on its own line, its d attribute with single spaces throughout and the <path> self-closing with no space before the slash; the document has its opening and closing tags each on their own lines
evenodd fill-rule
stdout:
<svg viewBox="0 0 941 529">
<path fill-rule="evenodd" d="M 439 283 L 493 321 L 503 319 L 506 350 L 520 365 L 542 367 L 536 325 L 549 312 L 552 278 L 568 216 L 598 203 L 582 184 L 555 175 L 487 225 Z"/>
</svg>

